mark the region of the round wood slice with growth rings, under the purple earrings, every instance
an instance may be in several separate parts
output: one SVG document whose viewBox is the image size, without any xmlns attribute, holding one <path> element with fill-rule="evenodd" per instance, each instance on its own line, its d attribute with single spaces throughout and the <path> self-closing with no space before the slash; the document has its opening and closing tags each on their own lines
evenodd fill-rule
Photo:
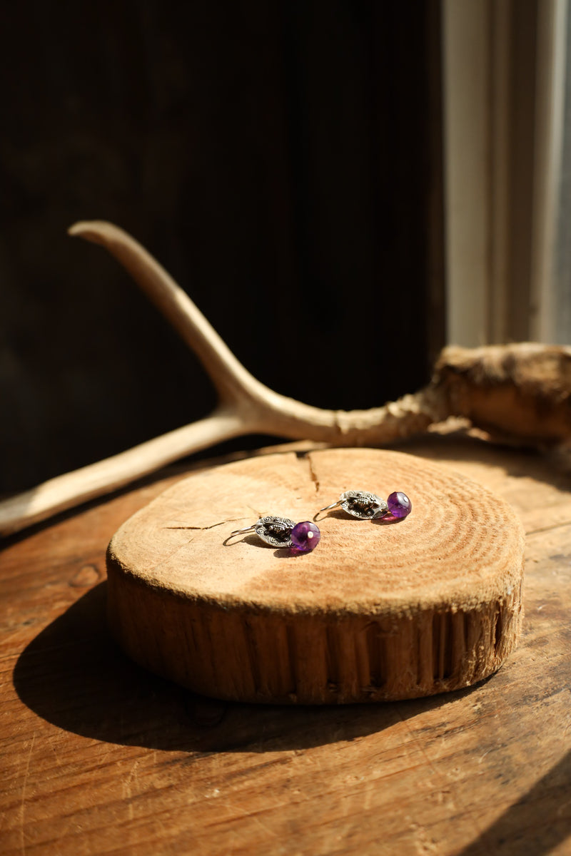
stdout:
<svg viewBox="0 0 571 856">
<path fill-rule="evenodd" d="M 312 520 L 343 490 L 403 490 L 404 520 L 319 521 L 306 555 L 255 534 L 265 514 Z M 491 675 L 521 625 L 524 535 L 470 479 L 374 449 L 288 452 L 182 479 L 111 539 L 110 627 L 152 672 L 215 698 L 377 702 Z"/>
</svg>

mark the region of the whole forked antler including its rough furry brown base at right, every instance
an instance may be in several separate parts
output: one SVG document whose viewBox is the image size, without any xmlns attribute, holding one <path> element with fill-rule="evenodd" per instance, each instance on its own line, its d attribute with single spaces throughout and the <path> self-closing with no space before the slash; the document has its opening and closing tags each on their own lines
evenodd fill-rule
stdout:
<svg viewBox="0 0 571 856">
<path fill-rule="evenodd" d="M 471 416 L 474 423 L 478 424 L 482 407 L 478 407 L 481 401 L 478 395 L 474 398 L 473 389 L 479 394 L 486 389 L 489 393 L 491 389 L 502 387 L 503 383 L 512 386 L 518 383 L 518 378 L 510 375 L 509 360 L 504 360 L 506 365 L 503 366 L 497 354 L 491 356 L 493 371 L 491 384 L 488 383 L 490 378 L 486 375 L 485 364 L 493 349 L 445 349 L 431 383 L 414 395 L 405 395 L 398 401 L 371 410 L 345 412 L 310 407 L 300 401 L 278 395 L 247 372 L 186 292 L 122 229 L 111 223 L 96 221 L 76 223 L 69 229 L 69 234 L 80 235 L 86 241 L 101 244 L 128 270 L 187 345 L 199 356 L 217 389 L 219 401 L 214 412 L 206 419 L 199 419 L 148 443 L 141 443 L 140 446 L 120 455 L 82 467 L 74 473 L 58 476 L 33 490 L 0 502 L 0 535 L 18 532 L 52 514 L 103 496 L 178 458 L 230 437 L 260 433 L 343 446 L 379 446 L 425 431 L 432 423 L 443 421 L 450 415 Z M 509 351 L 512 355 L 510 359 L 513 360 L 514 349 L 520 348 L 523 349 L 520 356 L 524 362 L 529 360 L 530 354 L 532 362 L 537 362 L 538 353 L 533 350 L 536 347 L 542 348 L 532 345 L 505 346 L 502 353 L 503 357 L 506 357 Z M 545 355 L 547 350 L 549 349 L 542 348 L 541 354 Z M 571 352 L 568 353 L 565 348 L 556 348 L 555 351 L 551 349 L 550 354 L 553 358 L 549 363 L 550 372 L 560 377 L 561 361 L 571 360 Z M 515 354 L 516 363 L 518 359 L 518 354 Z M 498 375 L 500 364 L 505 375 L 503 379 Z M 568 372 L 563 374 L 567 377 Z M 532 390 L 532 398 L 533 395 L 536 395 L 536 392 Z M 553 397 L 557 402 L 562 400 L 561 383 L 559 386 L 553 386 Z M 525 401 L 523 406 L 529 407 Z M 544 419 L 544 404 L 542 407 L 541 417 Z M 521 423 L 516 410 L 512 401 L 506 411 L 506 424 L 512 435 L 521 436 L 522 432 L 518 430 L 518 426 L 521 429 Z M 485 412 L 484 415 L 482 423 L 485 423 L 488 429 L 495 426 L 499 431 L 506 430 L 502 419 L 495 425 L 493 413 Z M 528 416 L 526 413 L 526 417 Z M 534 429 L 536 422 L 537 419 L 533 422 Z M 544 431 L 543 435 L 538 435 L 539 439 L 558 441 L 568 437 L 571 435 L 571 424 L 568 423 L 569 419 L 559 419 L 551 433 Z M 529 432 L 526 437 L 528 440 L 530 437 L 536 439 L 536 435 L 530 435 Z"/>
</svg>

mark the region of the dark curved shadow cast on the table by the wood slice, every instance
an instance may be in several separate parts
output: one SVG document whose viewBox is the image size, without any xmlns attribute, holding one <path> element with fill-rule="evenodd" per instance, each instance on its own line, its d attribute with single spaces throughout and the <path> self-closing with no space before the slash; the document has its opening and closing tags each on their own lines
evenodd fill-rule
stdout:
<svg viewBox="0 0 571 856">
<path fill-rule="evenodd" d="M 153 749 L 268 752 L 353 740 L 450 700 L 310 707 L 204 698 L 122 653 L 107 629 L 106 586 L 92 588 L 39 633 L 14 670 L 22 702 L 74 734 Z"/>
</svg>

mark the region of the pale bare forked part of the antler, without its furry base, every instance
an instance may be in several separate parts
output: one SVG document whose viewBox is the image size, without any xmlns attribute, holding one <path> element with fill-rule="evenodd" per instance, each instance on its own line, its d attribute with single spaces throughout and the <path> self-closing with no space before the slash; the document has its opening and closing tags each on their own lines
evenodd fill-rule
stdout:
<svg viewBox="0 0 571 856">
<path fill-rule="evenodd" d="M 220 403 L 206 419 L 66 473 L 0 502 L 0 536 L 103 496 L 159 467 L 230 437 L 267 433 L 339 445 L 381 445 L 424 431 L 448 412 L 430 386 L 367 411 L 322 410 L 279 395 L 236 360 L 202 312 L 137 241 L 112 223 L 75 223 L 70 235 L 105 247 L 199 356 Z"/>
</svg>

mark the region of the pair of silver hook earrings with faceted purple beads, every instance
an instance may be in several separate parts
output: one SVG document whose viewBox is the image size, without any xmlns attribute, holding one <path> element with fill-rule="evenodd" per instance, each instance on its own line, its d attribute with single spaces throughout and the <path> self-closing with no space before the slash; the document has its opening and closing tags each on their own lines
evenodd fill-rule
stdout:
<svg viewBox="0 0 571 856">
<path fill-rule="evenodd" d="M 390 517 L 401 520 L 410 514 L 412 502 L 406 493 L 396 490 L 384 501 L 380 496 L 369 493 L 367 490 L 346 490 L 336 502 L 320 508 L 313 520 L 318 520 L 319 514 L 330 511 L 333 508 L 342 508 L 347 514 L 359 518 L 359 520 L 376 520 L 379 517 Z M 299 553 L 309 553 L 315 550 L 321 538 L 318 526 L 311 520 L 295 523 L 287 517 L 260 517 L 253 526 L 245 529 L 236 529 L 231 532 L 229 538 L 235 535 L 244 535 L 247 532 L 255 532 L 266 544 L 272 547 L 289 547 Z"/>
</svg>

